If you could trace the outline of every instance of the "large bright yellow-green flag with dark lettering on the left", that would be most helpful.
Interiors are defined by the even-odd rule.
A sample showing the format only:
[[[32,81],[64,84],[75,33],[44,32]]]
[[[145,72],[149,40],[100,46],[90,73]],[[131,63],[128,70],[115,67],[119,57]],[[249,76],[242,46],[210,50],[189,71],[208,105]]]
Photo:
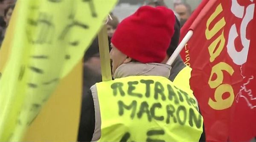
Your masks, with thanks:
[[[84,55],[115,3],[17,1],[16,16],[9,25],[12,30],[8,29],[3,43],[10,48],[0,78],[0,141],[22,139],[58,82]]]

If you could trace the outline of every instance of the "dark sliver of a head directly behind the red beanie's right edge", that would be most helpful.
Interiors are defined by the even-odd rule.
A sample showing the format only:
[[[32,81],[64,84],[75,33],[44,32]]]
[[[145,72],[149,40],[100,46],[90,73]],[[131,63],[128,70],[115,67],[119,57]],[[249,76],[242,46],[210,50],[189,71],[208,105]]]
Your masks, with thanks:
[[[169,48],[167,49],[167,52],[166,52],[168,56],[172,56],[172,53],[175,51],[175,49],[179,45],[179,42],[180,42],[180,22],[175,16],[174,33],[173,33]]]

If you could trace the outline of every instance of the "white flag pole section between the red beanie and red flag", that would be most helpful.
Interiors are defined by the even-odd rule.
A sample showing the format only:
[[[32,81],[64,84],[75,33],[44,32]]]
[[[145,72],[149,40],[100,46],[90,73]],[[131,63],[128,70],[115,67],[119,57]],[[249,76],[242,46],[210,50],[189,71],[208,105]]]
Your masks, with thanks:
[[[184,38],[182,39],[182,41],[180,42],[180,44],[176,48],[176,50],[172,53],[172,56],[168,59],[166,64],[169,64],[170,66],[172,65],[172,63],[177,58],[177,56],[180,54],[180,51],[183,49],[183,47],[186,45],[186,43],[189,41],[189,39],[192,37],[192,35],[193,35],[193,31],[189,30],[186,33],[186,36],[184,36]]]

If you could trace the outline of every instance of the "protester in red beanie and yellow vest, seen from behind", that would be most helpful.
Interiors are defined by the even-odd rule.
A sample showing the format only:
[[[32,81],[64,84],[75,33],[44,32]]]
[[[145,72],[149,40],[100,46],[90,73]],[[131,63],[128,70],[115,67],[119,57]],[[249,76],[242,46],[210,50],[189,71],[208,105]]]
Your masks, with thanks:
[[[83,98],[78,141],[199,140],[203,120],[196,99],[174,86],[168,80],[171,66],[161,64],[174,25],[173,11],[163,6],[143,6],[119,24],[110,53],[115,80],[93,85]],[[178,115],[181,108],[183,116]],[[190,115],[186,109],[193,116],[185,117]],[[185,122],[195,117],[198,119]]]

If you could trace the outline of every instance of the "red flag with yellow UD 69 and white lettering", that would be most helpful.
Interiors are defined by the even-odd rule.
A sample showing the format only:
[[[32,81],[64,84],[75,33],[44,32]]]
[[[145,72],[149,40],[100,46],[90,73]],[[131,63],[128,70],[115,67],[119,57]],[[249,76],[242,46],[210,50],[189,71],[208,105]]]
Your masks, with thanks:
[[[256,136],[256,0],[203,0],[181,29],[194,31],[180,55],[207,141]]]

